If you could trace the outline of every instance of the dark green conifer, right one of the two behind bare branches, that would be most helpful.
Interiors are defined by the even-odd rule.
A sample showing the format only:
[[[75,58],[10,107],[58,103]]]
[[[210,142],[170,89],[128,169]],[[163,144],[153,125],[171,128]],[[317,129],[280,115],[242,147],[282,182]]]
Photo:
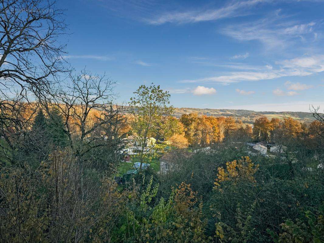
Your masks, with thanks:
[[[52,110],[48,122],[49,139],[53,145],[61,148],[68,144],[68,136],[64,132],[64,122],[57,110]]]

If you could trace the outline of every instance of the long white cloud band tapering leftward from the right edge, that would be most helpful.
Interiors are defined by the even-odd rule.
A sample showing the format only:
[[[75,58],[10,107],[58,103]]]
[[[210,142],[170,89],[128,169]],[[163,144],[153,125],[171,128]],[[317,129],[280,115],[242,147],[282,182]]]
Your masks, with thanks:
[[[308,60],[303,63],[303,60]],[[324,71],[324,55],[300,57],[276,62],[276,68],[266,68],[260,71],[226,72],[224,75],[204,77],[199,79],[181,80],[180,83],[216,82],[224,85],[241,81],[259,81],[289,76],[307,76]]]

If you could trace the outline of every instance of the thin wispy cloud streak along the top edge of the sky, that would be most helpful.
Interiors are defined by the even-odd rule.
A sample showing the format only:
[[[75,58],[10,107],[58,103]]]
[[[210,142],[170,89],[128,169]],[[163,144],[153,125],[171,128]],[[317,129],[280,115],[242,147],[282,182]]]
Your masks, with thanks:
[[[153,19],[145,19],[145,22],[152,25],[161,25],[165,23],[186,24],[236,17],[246,15],[244,10],[258,3],[267,1],[269,0],[238,1],[217,9],[167,12]]]

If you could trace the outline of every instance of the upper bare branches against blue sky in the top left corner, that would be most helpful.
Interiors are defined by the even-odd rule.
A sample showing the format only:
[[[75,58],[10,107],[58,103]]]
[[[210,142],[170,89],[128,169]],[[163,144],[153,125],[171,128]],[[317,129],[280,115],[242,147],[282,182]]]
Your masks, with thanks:
[[[63,10],[41,0],[0,3],[0,83],[4,87],[40,88],[66,71],[65,45],[58,37],[66,28]],[[3,92],[3,95],[4,94]]]

